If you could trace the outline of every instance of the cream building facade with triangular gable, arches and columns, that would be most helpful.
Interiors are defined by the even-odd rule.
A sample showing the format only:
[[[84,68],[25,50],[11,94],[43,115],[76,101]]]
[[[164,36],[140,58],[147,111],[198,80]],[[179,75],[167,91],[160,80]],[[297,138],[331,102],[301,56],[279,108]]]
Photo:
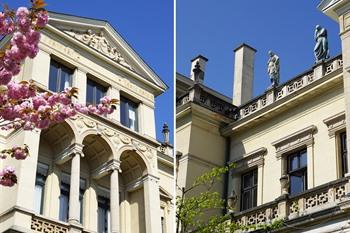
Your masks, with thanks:
[[[2,148],[26,144],[30,157],[0,161],[18,175],[0,189],[0,231],[172,232],[172,146],[155,139],[154,114],[167,86],[154,71],[108,22],[50,12],[37,57],[16,77],[29,78],[53,92],[78,87],[81,103],[108,95],[119,105],[107,117],[1,132]]]

